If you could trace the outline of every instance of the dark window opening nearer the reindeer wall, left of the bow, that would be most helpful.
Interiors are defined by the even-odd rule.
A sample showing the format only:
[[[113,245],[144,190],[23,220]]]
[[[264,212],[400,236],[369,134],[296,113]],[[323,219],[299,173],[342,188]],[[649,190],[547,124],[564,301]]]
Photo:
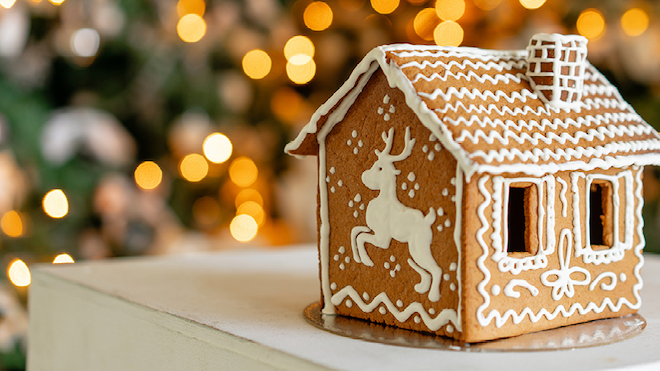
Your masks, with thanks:
[[[538,251],[538,193],[532,183],[512,183],[507,205],[509,255],[534,255]]]

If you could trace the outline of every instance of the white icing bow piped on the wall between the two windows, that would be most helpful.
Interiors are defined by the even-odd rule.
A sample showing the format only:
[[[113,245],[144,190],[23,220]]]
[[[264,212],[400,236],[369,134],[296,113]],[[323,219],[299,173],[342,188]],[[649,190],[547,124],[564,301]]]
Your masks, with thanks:
[[[552,298],[554,300],[561,299],[564,295],[572,298],[575,295],[575,286],[585,286],[591,281],[591,274],[584,268],[571,267],[571,255],[573,253],[573,240],[571,231],[563,229],[559,236],[559,269],[551,269],[541,274],[541,283],[545,286],[552,287]],[[564,246],[566,248],[564,249]],[[564,250],[566,250],[564,252]],[[576,280],[571,278],[571,275],[578,273],[584,275],[584,279]],[[556,277],[550,280],[550,277]]]

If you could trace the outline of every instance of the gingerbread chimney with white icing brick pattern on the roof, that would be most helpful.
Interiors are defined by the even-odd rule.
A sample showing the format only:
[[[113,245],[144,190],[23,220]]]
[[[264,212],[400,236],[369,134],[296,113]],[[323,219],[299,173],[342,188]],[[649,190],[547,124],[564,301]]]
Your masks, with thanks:
[[[536,34],[527,46],[527,77],[548,105],[579,107],[587,60],[587,39],[578,35]]]

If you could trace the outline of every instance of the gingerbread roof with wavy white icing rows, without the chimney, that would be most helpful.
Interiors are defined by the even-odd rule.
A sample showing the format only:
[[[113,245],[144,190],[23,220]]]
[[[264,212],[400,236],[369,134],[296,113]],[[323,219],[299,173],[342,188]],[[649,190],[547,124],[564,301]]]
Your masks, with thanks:
[[[540,176],[564,170],[660,165],[660,135],[584,61],[581,100],[555,106],[527,75],[528,52],[396,44],[372,50],[286,152],[318,153],[381,68],[421,123],[474,173]]]

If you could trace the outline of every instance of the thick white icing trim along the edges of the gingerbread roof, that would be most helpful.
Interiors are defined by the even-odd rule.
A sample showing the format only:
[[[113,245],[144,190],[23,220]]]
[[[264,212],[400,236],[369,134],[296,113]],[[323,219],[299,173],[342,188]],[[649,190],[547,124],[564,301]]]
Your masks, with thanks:
[[[628,142],[622,140],[621,142],[609,143],[609,150],[606,150],[604,146],[587,148],[575,147],[574,152],[576,155],[572,156],[573,158],[568,159],[565,155],[557,153],[550,157],[558,157],[560,158],[559,160],[543,164],[529,164],[523,163],[522,161],[520,163],[502,164],[497,160],[493,160],[493,158],[511,156],[511,153],[508,155],[501,153],[491,155],[490,152],[493,151],[486,151],[488,157],[493,158],[491,158],[489,163],[479,163],[475,161],[475,155],[484,157],[484,153],[486,152],[469,152],[463,148],[461,143],[458,143],[453,138],[452,132],[447,126],[447,122],[438,117],[437,113],[426,105],[419,92],[417,92],[413,86],[413,82],[403,73],[401,67],[393,60],[388,62],[388,53],[393,53],[397,56],[425,56],[433,52],[442,52],[444,55],[479,59],[481,61],[501,61],[509,58],[522,58],[524,60],[527,56],[526,50],[494,51],[468,47],[420,46],[411,44],[391,44],[376,47],[357,65],[346,82],[344,82],[344,84],[316,110],[309,123],[305,125],[298,136],[286,145],[285,152],[300,157],[300,154],[292,152],[298,150],[304,142],[313,140],[313,137],[316,137],[316,140],[319,142],[325,140],[327,133],[332,130],[334,125],[342,121],[346,112],[353,105],[357,96],[362,92],[362,89],[373,73],[380,67],[386,76],[390,87],[397,88],[403,92],[406,104],[415,112],[420,122],[453,154],[457,159],[459,166],[465,172],[467,179],[475,173],[525,173],[528,175],[541,176],[543,174],[555,173],[558,171],[589,171],[595,168],[607,169],[610,167],[626,167],[631,165],[660,165],[660,135],[658,135],[655,130],[653,130],[655,138],[646,140],[643,142],[642,146],[636,145],[638,142],[632,143],[635,145],[627,146]],[[607,84],[610,85],[609,83]],[[529,95],[531,95],[529,99],[540,100],[535,92],[531,92]],[[615,97],[623,101],[618,91],[616,92]],[[556,108],[547,108],[552,112],[559,111],[559,109]],[[579,112],[579,110],[580,108],[578,107],[574,111]],[[632,113],[637,115],[634,111],[632,111]],[[326,120],[321,127],[319,127],[319,121],[323,118]],[[648,125],[641,119],[641,117],[639,118],[639,121],[644,125]],[[612,148],[614,150],[612,150]],[[558,149],[558,152],[562,152],[561,148]],[[582,157],[582,154],[585,152],[598,157],[590,157],[581,160],[580,157]],[[625,154],[625,152],[630,152],[630,154]],[[612,153],[613,155],[608,156],[608,153]],[[585,157],[588,156],[585,155]],[[520,160],[520,158],[518,158],[518,160]]]

